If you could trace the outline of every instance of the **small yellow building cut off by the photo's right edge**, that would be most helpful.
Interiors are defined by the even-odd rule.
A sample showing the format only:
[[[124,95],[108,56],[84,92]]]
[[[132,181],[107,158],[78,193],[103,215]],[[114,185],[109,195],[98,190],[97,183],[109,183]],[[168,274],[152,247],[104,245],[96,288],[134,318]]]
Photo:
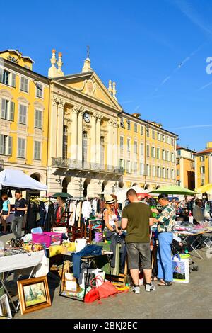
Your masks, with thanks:
[[[208,142],[206,149],[196,152],[195,159],[195,187],[212,183],[212,142]]]

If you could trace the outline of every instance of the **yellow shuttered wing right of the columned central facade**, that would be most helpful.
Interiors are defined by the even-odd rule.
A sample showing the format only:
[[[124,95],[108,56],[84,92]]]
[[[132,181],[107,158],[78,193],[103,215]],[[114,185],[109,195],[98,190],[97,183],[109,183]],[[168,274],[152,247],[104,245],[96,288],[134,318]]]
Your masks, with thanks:
[[[119,120],[119,166],[123,186],[145,189],[176,184],[177,135],[123,111]]]

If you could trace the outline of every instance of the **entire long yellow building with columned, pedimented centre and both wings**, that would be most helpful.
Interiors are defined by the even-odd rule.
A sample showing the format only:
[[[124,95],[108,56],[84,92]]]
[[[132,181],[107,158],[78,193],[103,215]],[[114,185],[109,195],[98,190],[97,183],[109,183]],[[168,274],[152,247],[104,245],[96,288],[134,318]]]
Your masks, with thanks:
[[[52,50],[48,77],[18,50],[0,52],[0,162],[47,183],[48,193],[98,197],[117,187],[176,183],[177,135],[126,113],[89,57],[64,75]]]

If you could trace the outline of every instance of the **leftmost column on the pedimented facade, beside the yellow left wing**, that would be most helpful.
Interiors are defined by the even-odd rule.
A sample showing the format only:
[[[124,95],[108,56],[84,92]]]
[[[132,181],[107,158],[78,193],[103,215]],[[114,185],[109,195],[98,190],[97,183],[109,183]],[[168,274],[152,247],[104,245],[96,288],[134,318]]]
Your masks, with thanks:
[[[57,98],[52,97],[50,113],[49,158],[57,157]],[[51,161],[52,164],[52,161]]]

